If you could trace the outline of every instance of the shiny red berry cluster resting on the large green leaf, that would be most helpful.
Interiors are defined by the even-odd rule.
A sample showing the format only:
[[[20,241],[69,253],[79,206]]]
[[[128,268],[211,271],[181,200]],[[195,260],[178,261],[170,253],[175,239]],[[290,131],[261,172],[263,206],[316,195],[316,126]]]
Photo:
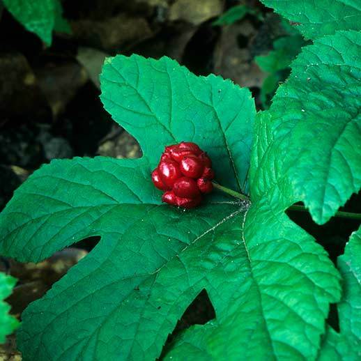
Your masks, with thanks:
[[[197,144],[182,141],[166,146],[158,167],[152,173],[152,181],[164,190],[162,201],[183,208],[199,205],[202,194],[213,190],[212,162]]]

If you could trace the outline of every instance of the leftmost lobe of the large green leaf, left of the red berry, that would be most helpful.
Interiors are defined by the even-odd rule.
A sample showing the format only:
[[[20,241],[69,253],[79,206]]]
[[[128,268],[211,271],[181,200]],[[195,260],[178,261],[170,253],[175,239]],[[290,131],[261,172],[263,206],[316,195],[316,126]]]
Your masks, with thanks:
[[[1,213],[0,253],[38,262],[77,240],[98,236],[104,230],[93,223],[114,214],[112,208],[121,203],[158,205],[160,192],[150,174],[146,160],[74,158],[44,165]]]

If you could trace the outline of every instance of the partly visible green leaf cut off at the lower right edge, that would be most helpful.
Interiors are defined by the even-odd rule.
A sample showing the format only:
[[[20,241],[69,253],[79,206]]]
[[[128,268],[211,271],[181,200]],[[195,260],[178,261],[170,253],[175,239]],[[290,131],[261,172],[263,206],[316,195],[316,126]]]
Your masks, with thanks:
[[[343,294],[337,305],[340,332],[328,326],[319,360],[361,358],[361,228],[351,235],[337,266],[343,279]]]

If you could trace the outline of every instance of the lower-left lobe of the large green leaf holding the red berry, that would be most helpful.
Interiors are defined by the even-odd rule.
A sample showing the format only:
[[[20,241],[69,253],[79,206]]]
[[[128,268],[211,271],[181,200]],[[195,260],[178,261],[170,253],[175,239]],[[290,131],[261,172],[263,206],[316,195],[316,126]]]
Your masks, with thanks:
[[[223,282],[222,259],[236,240],[222,243],[218,229],[240,210],[212,210],[128,206],[132,222],[124,210],[109,213],[112,233],[103,231],[95,252],[24,312],[18,340],[26,359],[157,358],[190,302]]]

